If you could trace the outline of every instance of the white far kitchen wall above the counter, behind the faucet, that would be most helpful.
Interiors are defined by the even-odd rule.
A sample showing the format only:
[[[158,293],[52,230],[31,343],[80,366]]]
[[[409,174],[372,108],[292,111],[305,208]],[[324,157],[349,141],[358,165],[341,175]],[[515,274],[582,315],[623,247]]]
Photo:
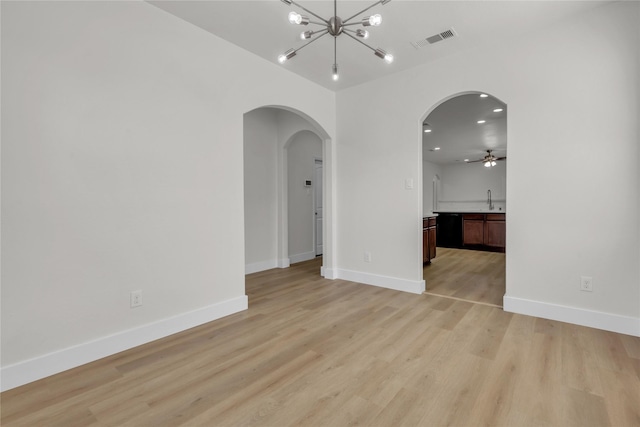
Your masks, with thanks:
[[[491,168],[482,163],[443,165],[440,178],[440,211],[488,209],[487,190],[491,190],[496,211],[506,207],[507,160],[496,162]]]

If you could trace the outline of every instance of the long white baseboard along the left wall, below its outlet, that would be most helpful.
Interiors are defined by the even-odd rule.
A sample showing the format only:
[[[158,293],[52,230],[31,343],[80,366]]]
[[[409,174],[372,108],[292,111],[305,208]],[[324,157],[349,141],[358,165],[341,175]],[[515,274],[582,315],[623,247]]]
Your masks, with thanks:
[[[94,341],[78,344],[53,353],[5,366],[0,371],[5,391],[103,357],[155,341],[160,338],[211,322],[248,308],[246,295],[222,301],[137,328],[118,332]]]

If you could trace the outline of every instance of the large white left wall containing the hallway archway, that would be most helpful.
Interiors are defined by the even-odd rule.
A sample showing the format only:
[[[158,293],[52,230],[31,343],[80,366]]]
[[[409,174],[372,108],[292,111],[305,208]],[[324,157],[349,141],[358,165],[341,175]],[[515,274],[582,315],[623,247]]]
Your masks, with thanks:
[[[265,105],[334,138],[333,93],[149,4],[2,2],[2,388],[246,307]]]

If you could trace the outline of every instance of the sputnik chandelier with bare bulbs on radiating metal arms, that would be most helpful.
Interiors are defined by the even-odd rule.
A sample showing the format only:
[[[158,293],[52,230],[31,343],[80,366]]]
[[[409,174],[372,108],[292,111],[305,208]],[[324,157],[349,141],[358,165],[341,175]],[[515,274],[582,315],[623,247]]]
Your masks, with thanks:
[[[371,9],[374,6],[377,6],[378,4],[381,5],[385,5],[387,3],[389,3],[391,0],[379,0],[375,3],[373,3],[371,6],[361,10],[360,12],[356,13],[355,15],[347,18],[347,19],[341,19],[338,16],[338,6],[337,6],[337,0],[333,1],[333,16],[329,19],[324,19],[321,16],[313,13],[312,11],[310,11],[309,9],[304,8],[303,6],[301,6],[300,4],[296,3],[294,0],[282,0],[284,3],[286,3],[287,5],[294,5],[299,7],[300,9],[302,9],[303,11],[309,13],[310,15],[313,15],[315,18],[319,19],[321,22],[317,22],[317,21],[312,21],[311,19],[309,19],[309,17],[304,16],[299,14],[298,12],[295,11],[291,11],[289,12],[289,22],[295,25],[309,25],[309,24],[314,24],[314,25],[320,25],[321,28],[315,31],[309,30],[309,31],[303,31],[300,34],[300,38],[302,40],[309,40],[307,43],[303,44],[302,46],[300,46],[297,49],[289,49],[288,51],[286,51],[285,53],[283,53],[282,55],[278,56],[278,62],[280,62],[281,64],[283,64],[285,61],[287,61],[288,59],[293,58],[296,53],[298,53],[298,51],[306,46],[309,46],[311,43],[313,43],[314,41],[326,36],[327,34],[333,36],[333,66],[331,67],[331,72],[332,72],[332,77],[333,80],[338,80],[338,61],[337,61],[337,56],[338,56],[338,48],[337,48],[337,39],[339,35],[345,34],[349,37],[351,37],[352,39],[354,39],[355,41],[357,41],[358,43],[363,44],[364,46],[368,47],[369,49],[371,49],[373,51],[373,53],[379,57],[384,59],[387,63],[392,63],[393,62],[393,55],[391,55],[390,53],[385,52],[384,50],[377,48],[374,49],[373,47],[369,46],[368,44],[366,44],[365,42],[363,42],[360,39],[364,39],[366,40],[369,37],[369,32],[363,28],[358,28],[356,30],[353,30],[351,28],[347,28],[353,25],[362,25],[363,27],[377,27],[378,25],[380,25],[382,23],[382,16],[380,16],[379,14],[375,14],[375,15],[371,15],[368,16],[366,18],[362,18],[360,20],[354,21],[354,22],[350,22],[353,18],[356,18],[357,16],[363,14],[364,12],[368,11],[369,9]]]

